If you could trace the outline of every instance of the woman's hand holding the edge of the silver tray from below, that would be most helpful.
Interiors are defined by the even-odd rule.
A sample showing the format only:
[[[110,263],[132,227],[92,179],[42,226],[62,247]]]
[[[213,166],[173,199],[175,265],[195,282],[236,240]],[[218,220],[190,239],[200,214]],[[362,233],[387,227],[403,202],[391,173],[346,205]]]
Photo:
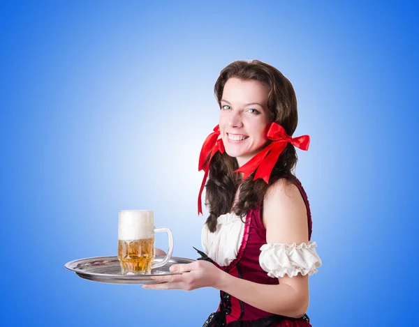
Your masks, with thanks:
[[[174,264],[170,266],[171,273],[182,275],[153,276],[153,280],[161,284],[144,284],[144,289],[183,289],[192,291],[200,287],[214,287],[219,289],[223,271],[208,261],[197,260],[191,264]]]

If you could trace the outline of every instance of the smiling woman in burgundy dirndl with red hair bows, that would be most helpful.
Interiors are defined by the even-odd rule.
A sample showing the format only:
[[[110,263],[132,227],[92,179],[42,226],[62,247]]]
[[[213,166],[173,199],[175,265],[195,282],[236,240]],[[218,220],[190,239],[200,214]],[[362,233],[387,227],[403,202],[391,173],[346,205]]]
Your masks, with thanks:
[[[221,112],[200,153],[210,211],[203,260],[170,268],[148,289],[214,287],[221,302],[204,326],[311,326],[309,275],[321,259],[311,238],[307,195],[293,175],[297,100],[291,83],[261,61],[235,61],[221,71]],[[218,139],[218,137],[221,137]],[[201,212],[200,195],[198,212]]]

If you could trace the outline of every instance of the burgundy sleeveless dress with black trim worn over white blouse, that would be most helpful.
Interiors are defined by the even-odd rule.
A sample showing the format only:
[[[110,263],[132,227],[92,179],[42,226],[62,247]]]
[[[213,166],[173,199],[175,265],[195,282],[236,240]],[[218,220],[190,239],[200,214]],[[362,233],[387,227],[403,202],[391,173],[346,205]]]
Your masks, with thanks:
[[[311,238],[311,212],[306,192],[302,188],[300,181],[295,183],[300,190],[302,198],[307,208],[307,218],[309,223],[309,240]],[[235,277],[250,280],[258,284],[279,284],[277,278],[267,275],[260,267],[259,255],[260,247],[266,243],[266,229],[260,218],[260,206],[247,213],[244,233],[239,252],[235,260],[228,266],[219,266],[203,252],[201,256],[207,261],[211,261],[215,266],[226,271]],[[311,327],[309,317],[304,314],[300,319],[279,316],[265,312],[253,307],[239,299],[220,291],[221,301],[216,312],[208,317],[203,327]]]

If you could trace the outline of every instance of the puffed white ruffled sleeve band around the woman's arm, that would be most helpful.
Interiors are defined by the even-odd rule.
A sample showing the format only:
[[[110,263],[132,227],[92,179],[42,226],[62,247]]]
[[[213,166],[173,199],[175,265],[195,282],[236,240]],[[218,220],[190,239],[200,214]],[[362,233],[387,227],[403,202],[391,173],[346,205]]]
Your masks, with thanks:
[[[268,243],[260,248],[259,264],[270,277],[290,277],[298,273],[313,275],[321,266],[316,253],[316,242],[287,244]]]

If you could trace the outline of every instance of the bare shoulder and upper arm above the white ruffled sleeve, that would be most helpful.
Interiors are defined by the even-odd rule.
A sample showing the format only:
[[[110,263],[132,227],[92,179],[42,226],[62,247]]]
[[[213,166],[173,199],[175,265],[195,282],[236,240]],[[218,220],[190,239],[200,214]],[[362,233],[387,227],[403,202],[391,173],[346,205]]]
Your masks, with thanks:
[[[281,178],[268,188],[263,201],[267,243],[307,243],[307,208],[297,186]]]

